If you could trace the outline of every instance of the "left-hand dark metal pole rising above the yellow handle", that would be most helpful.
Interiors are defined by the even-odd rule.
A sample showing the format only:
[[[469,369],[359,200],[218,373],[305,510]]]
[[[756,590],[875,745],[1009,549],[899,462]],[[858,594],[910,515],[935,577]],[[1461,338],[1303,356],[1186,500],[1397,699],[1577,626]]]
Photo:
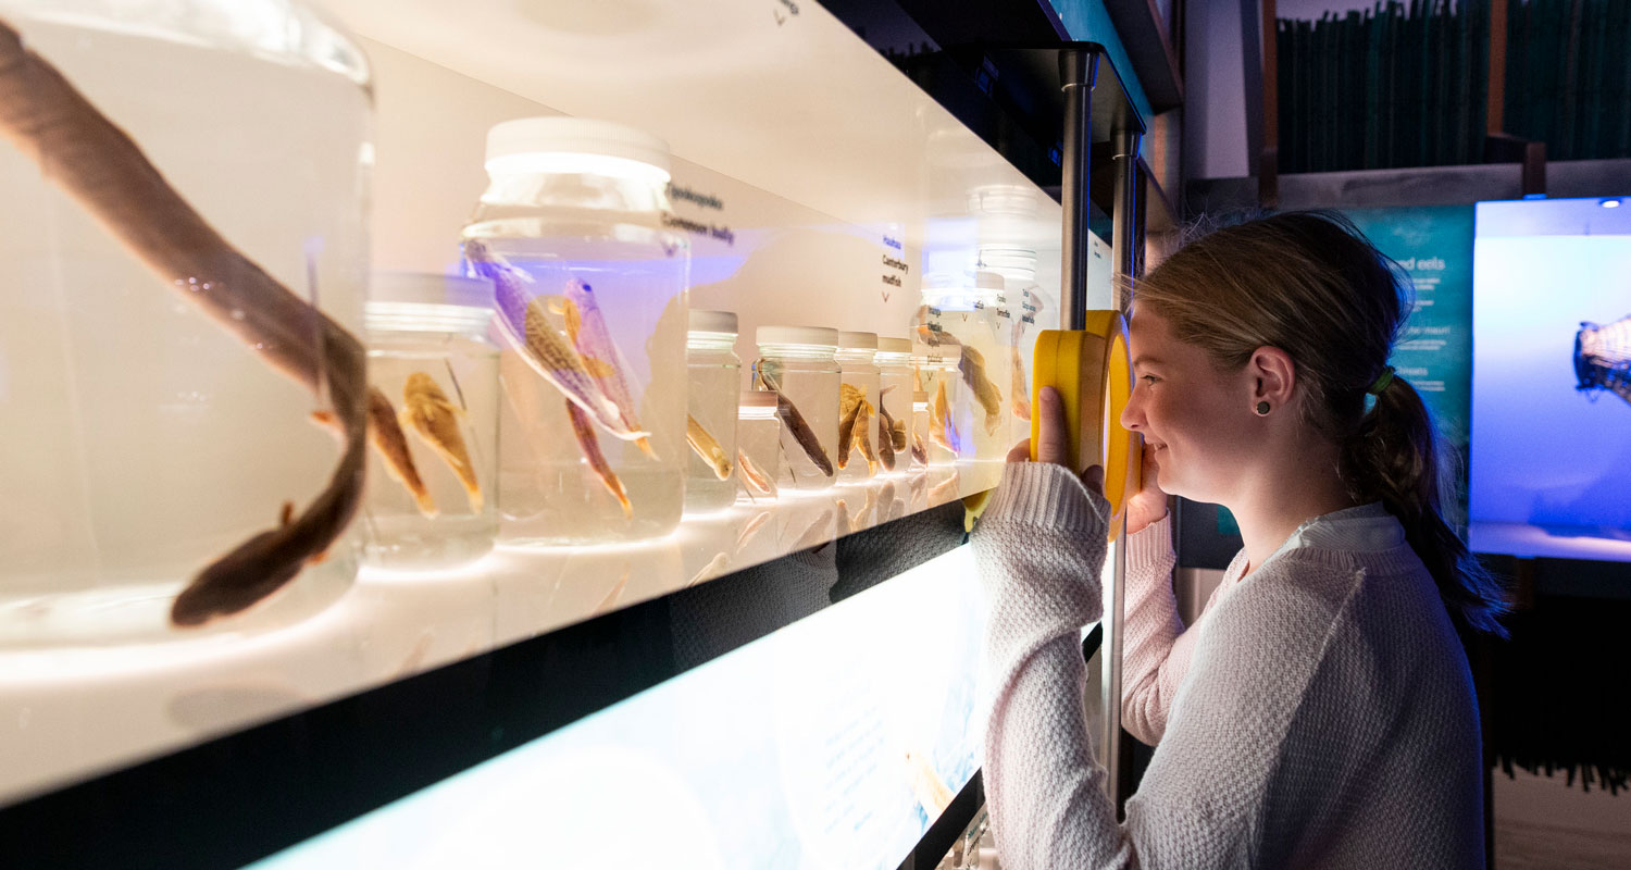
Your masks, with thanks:
[[[1059,289],[1060,320],[1067,330],[1088,325],[1088,176],[1093,155],[1093,82],[1099,55],[1086,51],[1059,52],[1059,78],[1065,91],[1065,149],[1060,155],[1060,204],[1063,206],[1063,282]]]

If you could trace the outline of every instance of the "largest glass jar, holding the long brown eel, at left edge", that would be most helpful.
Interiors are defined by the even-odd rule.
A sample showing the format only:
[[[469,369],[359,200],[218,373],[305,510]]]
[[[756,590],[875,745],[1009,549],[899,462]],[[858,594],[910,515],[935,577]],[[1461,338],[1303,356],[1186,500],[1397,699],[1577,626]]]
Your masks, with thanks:
[[[316,612],[357,565],[367,60],[285,0],[3,15],[0,648]]]

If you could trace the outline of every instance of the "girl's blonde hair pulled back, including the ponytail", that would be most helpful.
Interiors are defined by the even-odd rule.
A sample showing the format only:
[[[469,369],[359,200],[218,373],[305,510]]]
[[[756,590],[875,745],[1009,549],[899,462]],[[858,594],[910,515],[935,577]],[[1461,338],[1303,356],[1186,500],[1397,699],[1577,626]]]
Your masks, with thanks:
[[[1409,287],[1342,214],[1284,212],[1189,242],[1137,282],[1134,304],[1223,371],[1262,346],[1285,351],[1303,421],[1341,447],[1349,495],[1399,519],[1460,625],[1504,635],[1499,584],[1445,522],[1455,475],[1421,395],[1395,375],[1367,408],[1411,312]]]

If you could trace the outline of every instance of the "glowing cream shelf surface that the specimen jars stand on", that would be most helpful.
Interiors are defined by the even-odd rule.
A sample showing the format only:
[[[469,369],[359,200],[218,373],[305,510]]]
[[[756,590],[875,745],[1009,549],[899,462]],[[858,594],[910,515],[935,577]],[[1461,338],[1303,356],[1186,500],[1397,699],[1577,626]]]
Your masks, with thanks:
[[[157,752],[700,586],[988,490],[1000,464],[786,490],[638,545],[512,548],[439,573],[364,570],[315,619],[259,637],[0,656],[0,805]]]

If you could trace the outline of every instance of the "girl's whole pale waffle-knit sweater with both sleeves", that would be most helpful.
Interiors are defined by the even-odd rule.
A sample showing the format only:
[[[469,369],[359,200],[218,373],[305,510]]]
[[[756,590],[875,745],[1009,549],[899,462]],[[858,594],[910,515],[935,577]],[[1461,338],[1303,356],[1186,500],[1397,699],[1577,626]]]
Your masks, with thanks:
[[[1349,540],[1341,514],[1244,579],[1236,558],[1189,632],[1169,591],[1129,584],[1129,723],[1160,744],[1117,824],[1078,640],[1099,619],[1106,513],[1067,470],[1016,464],[974,532],[1005,870],[1484,865],[1478,710],[1450,619],[1396,522]],[[1169,568],[1165,532],[1129,542],[1130,573]]]

